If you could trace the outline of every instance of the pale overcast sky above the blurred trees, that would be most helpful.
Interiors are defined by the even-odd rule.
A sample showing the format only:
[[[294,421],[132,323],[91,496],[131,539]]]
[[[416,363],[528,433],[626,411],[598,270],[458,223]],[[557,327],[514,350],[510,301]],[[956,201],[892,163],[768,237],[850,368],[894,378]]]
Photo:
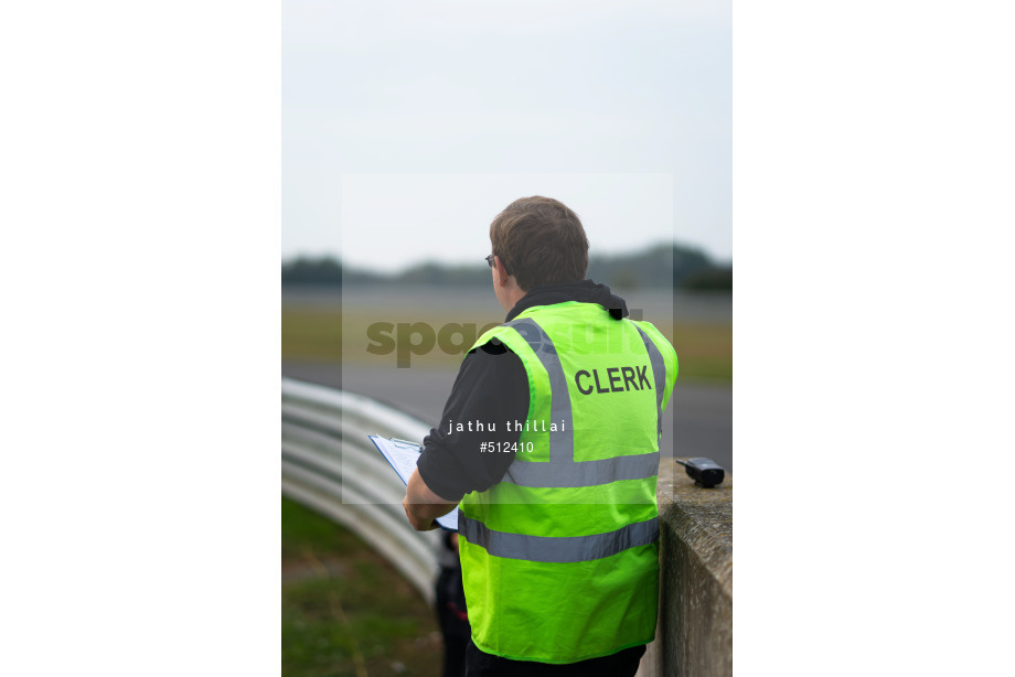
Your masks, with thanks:
[[[543,194],[730,259],[730,64],[728,2],[284,0],[282,257],[478,262]]]

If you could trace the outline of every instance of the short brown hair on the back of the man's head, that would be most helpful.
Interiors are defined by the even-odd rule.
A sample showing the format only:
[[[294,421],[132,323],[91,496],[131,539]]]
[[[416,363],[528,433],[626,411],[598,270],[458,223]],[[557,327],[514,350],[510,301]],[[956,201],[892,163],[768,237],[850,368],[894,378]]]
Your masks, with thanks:
[[[585,279],[588,238],[578,215],[552,197],[520,197],[490,224],[493,254],[524,291]]]

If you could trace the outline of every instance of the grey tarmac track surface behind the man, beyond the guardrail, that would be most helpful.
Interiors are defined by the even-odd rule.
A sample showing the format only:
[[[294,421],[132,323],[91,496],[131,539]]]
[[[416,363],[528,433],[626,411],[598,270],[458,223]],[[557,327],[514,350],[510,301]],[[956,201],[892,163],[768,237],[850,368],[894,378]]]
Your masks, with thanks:
[[[334,363],[282,362],[281,375],[366,395],[436,426],[455,369],[377,369]],[[664,455],[704,456],[733,473],[733,388],[702,382],[676,387],[663,421]]]

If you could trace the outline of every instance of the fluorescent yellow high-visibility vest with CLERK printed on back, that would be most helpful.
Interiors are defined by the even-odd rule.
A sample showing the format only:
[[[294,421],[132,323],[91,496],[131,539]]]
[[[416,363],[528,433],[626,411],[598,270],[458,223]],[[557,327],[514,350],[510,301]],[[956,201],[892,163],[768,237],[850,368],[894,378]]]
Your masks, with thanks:
[[[555,664],[651,642],[659,440],[676,352],[650,323],[576,301],[531,308],[473,347],[494,338],[522,359],[530,407],[527,421],[489,421],[522,429],[514,461],[459,506],[472,641]]]

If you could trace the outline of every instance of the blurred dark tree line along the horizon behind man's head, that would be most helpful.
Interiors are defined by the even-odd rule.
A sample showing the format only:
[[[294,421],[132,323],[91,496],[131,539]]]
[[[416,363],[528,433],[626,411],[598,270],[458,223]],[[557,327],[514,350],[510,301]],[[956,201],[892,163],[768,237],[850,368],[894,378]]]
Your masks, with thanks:
[[[713,261],[701,249],[684,245],[656,245],[624,255],[589,256],[588,277],[616,289],[667,287],[688,291],[731,291],[733,267]],[[282,286],[435,284],[489,286],[487,266],[419,264],[396,275],[380,275],[343,267],[332,257],[298,257],[282,262]]]

